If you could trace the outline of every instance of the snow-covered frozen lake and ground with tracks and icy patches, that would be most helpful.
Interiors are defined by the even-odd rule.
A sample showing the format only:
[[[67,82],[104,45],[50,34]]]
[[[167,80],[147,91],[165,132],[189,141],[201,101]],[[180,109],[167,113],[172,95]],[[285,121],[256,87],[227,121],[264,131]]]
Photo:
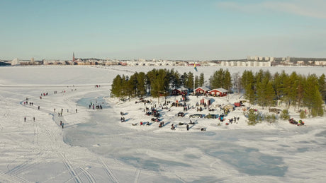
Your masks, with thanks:
[[[192,67],[173,68],[179,73],[193,71]],[[326,117],[304,119],[305,126],[281,120],[248,126],[242,111],[235,110],[227,119],[240,117],[236,124],[192,119],[196,124],[186,131],[186,126],[179,122],[188,123],[189,114],[221,112],[191,109],[185,117],[176,117],[183,112],[182,107],[165,110],[159,107],[157,99],[152,99],[152,105],[144,105],[135,103],[137,99],[121,102],[108,97],[116,74],[151,69],[154,68],[0,67],[0,182],[325,181]],[[198,73],[204,72],[208,79],[218,69],[198,67]],[[227,69],[231,73],[249,70]],[[322,67],[250,69],[269,69],[271,73],[284,69],[286,73],[297,71],[317,76],[326,72]],[[41,93],[48,95],[40,99]],[[23,104],[26,98],[33,106]],[[214,98],[213,105],[239,98],[241,95]],[[190,99],[190,106],[200,100]],[[167,100],[174,102],[179,97]],[[89,109],[90,102],[102,105],[103,109]],[[154,105],[162,114],[162,128],[143,112],[145,107]],[[120,112],[126,113],[124,123],[120,122]],[[291,111],[291,117],[298,119],[298,113]],[[64,122],[64,129],[60,121]],[[151,125],[140,126],[140,122]],[[171,124],[176,126],[175,131],[170,129]],[[206,131],[200,131],[201,128]]]

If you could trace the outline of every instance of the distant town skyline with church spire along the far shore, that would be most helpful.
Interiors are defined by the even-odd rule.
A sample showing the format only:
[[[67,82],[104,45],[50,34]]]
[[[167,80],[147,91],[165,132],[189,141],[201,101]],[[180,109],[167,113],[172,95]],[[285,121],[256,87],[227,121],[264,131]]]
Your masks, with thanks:
[[[75,58],[71,60],[42,59],[30,60],[13,59],[1,60],[0,66],[29,66],[29,65],[101,65],[101,66],[326,66],[326,58],[303,57],[257,57],[230,60],[170,60],[170,59],[97,59]]]

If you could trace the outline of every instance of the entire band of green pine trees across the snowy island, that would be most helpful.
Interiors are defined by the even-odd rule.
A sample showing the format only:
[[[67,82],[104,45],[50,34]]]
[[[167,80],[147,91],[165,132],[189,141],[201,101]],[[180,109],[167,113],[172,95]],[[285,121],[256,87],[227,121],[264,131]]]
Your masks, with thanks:
[[[149,94],[159,98],[170,95],[174,88],[198,88],[204,85],[204,81],[203,73],[194,76],[192,72],[180,74],[174,69],[152,69],[147,73],[136,72],[131,76],[117,75],[113,79],[111,95],[133,98]],[[315,74],[303,76],[294,71],[288,75],[282,71],[272,76],[269,71],[261,69],[257,73],[245,70],[242,76],[240,73],[231,76],[228,69],[219,69],[210,76],[209,87],[244,93],[250,105],[272,107],[276,100],[281,100],[286,102],[287,107],[307,107],[313,117],[324,114],[322,105],[326,100],[325,74],[320,77]]]

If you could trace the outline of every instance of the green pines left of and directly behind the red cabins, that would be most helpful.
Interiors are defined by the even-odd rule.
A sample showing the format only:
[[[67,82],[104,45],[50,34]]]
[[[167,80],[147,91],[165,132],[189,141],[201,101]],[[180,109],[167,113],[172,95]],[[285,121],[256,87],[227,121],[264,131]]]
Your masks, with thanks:
[[[193,81],[194,80],[194,81]],[[204,85],[204,74],[193,76],[192,72],[180,74],[174,69],[152,69],[147,73],[134,73],[132,76],[117,75],[113,79],[111,94],[116,97],[142,97],[149,91],[150,95],[157,98],[170,95],[174,88],[195,88]],[[231,75],[228,70],[220,69],[210,77],[212,88],[230,89],[232,86]]]

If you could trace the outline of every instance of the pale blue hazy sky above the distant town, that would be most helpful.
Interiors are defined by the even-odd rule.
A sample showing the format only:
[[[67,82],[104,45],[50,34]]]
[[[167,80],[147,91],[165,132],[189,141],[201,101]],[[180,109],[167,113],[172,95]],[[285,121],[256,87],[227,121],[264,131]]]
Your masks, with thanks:
[[[0,59],[326,57],[324,0],[1,0]]]

